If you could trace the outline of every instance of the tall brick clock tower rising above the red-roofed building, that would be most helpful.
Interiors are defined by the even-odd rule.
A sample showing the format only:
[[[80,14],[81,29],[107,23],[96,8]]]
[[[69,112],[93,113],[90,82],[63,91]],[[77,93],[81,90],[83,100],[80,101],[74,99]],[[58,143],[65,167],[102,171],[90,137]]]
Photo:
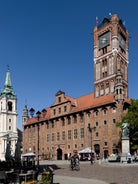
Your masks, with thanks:
[[[94,96],[128,97],[128,31],[118,15],[94,27]]]

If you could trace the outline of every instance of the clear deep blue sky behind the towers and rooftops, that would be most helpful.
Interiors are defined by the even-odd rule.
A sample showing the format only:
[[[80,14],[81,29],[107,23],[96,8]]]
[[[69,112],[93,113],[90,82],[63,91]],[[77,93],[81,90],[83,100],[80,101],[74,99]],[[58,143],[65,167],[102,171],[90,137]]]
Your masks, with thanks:
[[[24,105],[49,107],[62,90],[74,98],[93,92],[93,38],[99,22],[118,14],[130,33],[129,97],[138,99],[136,0],[1,0],[0,89],[7,65],[17,94],[18,127]],[[131,12],[131,13],[130,13]]]

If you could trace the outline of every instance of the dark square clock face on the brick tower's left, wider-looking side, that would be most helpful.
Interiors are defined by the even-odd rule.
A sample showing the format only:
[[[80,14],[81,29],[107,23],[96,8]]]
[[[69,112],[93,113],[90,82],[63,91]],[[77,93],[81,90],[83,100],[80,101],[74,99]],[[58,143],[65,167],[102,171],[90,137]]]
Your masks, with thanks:
[[[107,47],[110,44],[110,32],[106,32],[98,37],[99,49]]]

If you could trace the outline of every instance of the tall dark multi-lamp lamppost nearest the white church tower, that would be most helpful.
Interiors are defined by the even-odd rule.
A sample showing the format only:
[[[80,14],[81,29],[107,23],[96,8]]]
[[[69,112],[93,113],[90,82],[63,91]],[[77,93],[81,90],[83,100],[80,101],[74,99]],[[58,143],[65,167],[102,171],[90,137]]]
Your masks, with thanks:
[[[30,109],[30,114],[31,114],[31,116],[33,117],[33,115],[34,115],[34,113],[35,113],[35,110],[33,109],[33,108],[31,108]],[[40,127],[39,127],[39,119],[40,119],[40,114],[41,114],[41,112],[40,111],[37,111],[37,113],[36,113],[36,117],[37,117],[37,167],[39,168],[39,150],[40,150],[40,148],[39,148],[39,144],[40,144],[40,140],[39,140],[39,130],[40,130]]]

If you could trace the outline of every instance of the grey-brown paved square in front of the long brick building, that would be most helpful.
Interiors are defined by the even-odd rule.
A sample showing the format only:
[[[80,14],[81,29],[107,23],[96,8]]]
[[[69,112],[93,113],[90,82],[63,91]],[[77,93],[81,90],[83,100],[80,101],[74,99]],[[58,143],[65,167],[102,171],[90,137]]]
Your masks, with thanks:
[[[64,162],[64,163],[63,163]],[[54,161],[52,162],[54,164]],[[108,184],[137,184],[138,163],[80,162],[80,171],[71,171],[68,161],[58,161],[55,176],[87,178],[106,182]],[[68,182],[66,182],[68,183]],[[66,184],[65,183],[65,184]],[[98,184],[98,182],[96,183]]]

